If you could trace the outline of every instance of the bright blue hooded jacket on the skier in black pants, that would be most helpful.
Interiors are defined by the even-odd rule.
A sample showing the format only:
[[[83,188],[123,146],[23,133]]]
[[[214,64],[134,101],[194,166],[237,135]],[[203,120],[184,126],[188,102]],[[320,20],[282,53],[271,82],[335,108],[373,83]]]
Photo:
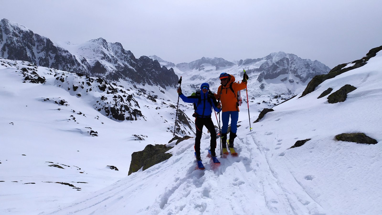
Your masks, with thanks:
[[[203,93],[203,90],[202,90],[203,86],[207,86],[208,88],[210,88],[210,85],[208,83],[202,83],[202,85],[200,85],[200,97],[201,97],[200,104],[198,104],[199,98],[188,98],[184,94],[180,94],[179,97],[186,103],[196,104],[195,112],[198,115],[198,117],[210,117],[212,114],[212,108],[214,108],[216,112],[220,112],[222,109],[221,108],[219,109],[215,106],[214,102],[212,101],[212,98],[209,98],[211,99],[210,102],[207,100],[208,91],[207,93]]]

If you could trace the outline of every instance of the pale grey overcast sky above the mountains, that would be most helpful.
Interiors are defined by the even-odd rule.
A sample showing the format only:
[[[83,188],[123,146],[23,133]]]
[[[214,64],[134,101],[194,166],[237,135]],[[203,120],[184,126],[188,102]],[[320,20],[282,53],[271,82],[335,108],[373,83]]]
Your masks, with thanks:
[[[380,0],[0,0],[0,18],[53,42],[102,37],[175,64],[284,51],[330,68],[382,45]]]

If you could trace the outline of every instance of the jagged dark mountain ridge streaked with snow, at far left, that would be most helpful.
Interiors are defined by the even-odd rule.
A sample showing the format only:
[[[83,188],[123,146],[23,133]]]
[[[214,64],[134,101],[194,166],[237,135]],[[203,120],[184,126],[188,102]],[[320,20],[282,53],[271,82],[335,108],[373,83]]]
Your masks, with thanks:
[[[136,59],[119,42],[99,38],[79,45],[58,45],[6,19],[0,21],[0,58],[24,60],[109,81],[125,80],[162,88],[175,87],[178,82],[172,69],[160,66],[147,56]]]

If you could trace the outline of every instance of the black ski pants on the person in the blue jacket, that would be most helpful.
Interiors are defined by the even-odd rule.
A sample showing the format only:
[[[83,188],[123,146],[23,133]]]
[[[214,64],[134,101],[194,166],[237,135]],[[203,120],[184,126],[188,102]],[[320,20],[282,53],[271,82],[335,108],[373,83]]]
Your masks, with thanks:
[[[215,148],[216,148],[216,131],[214,123],[212,122],[211,117],[196,117],[195,119],[195,127],[196,127],[196,138],[195,138],[195,151],[196,151],[196,159],[200,160],[200,139],[202,138],[202,130],[203,126],[206,126],[207,130],[210,131],[211,141],[210,141],[210,150],[211,155],[216,156]]]

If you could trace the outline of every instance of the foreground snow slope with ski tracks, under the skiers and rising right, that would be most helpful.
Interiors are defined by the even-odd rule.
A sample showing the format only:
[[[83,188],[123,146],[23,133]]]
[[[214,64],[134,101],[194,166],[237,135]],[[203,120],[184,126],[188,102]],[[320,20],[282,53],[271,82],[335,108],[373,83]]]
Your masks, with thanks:
[[[381,68],[379,52],[363,67],[275,106],[252,131],[243,120],[239,156],[220,158],[219,166],[206,157],[209,135],[202,137],[204,171],[196,170],[193,139],[185,140],[174,145],[167,161],[40,214],[381,214]],[[346,84],[357,88],[346,101],[317,99],[327,88]],[[251,116],[253,123],[257,116]],[[334,138],[352,132],[378,143]]]

